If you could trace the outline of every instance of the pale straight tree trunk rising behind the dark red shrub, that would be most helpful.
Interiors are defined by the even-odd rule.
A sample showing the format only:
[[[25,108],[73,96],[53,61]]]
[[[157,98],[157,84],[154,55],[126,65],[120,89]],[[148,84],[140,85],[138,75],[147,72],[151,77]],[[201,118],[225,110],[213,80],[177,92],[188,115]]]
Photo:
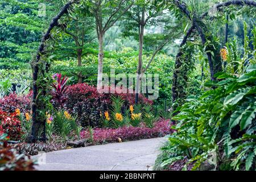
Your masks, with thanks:
[[[104,50],[103,50],[103,40],[104,33],[100,32],[98,35],[98,78],[97,78],[97,88],[102,88],[102,73],[103,73],[103,58],[104,58]]]

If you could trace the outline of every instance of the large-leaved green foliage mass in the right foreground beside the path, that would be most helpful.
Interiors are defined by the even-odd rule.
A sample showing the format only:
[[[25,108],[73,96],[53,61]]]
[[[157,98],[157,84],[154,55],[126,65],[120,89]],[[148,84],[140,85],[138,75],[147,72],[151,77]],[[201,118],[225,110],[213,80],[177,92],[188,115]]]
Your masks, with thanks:
[[[250,65],[240,77],[218,73],[223,80],[210,84],[216,89],[189,100],[172,118],[177,132],[170,136],[168,150],[178,150],[189,163],[195,162],[193,169],[205,161],[212,169],[254,169],[255,71]]]

